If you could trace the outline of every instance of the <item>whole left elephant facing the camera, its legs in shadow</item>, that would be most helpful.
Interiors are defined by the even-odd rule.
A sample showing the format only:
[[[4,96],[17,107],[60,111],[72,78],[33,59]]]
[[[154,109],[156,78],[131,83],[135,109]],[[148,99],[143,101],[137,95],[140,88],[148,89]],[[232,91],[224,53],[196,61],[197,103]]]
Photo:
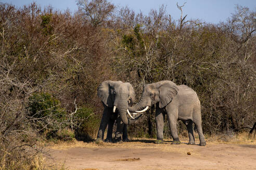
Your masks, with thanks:
[[[135,100],[135,93],[132,85],[128,82],[124,83],[122,81],[107,80],[99,85],[97,95],[103,103],[104,111],[96,140],[104,140],[104,132],[108,125],[107,138],[105,141],[111,142],[113,124],[114,121],[117,120],[117,131],[114,140],[120,141],[121,134],[123,134],[122,140],[129,141],[127,136],[127,124],[134,123],[140,116],[142,116],[140,115],[134,120],[127,119],[126,117],[126,112],[129,112],[128,107],[132,106]],[[129,115],[131,117],[130,112]],[[125,124],[122,121],[124,119],[123,117],[127,119]]]

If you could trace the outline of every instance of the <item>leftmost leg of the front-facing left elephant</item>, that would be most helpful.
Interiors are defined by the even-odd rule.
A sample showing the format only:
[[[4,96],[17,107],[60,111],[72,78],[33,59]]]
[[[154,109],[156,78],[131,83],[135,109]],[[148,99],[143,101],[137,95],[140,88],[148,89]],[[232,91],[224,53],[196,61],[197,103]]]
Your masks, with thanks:
[[[101,118],[100,125],[99,125],[97,140],[104,140],[104,133],[108,125],[108,121],[110,119],[108,111],[109,111],[108,108],[105,107],[103,111],[103,116]]]

